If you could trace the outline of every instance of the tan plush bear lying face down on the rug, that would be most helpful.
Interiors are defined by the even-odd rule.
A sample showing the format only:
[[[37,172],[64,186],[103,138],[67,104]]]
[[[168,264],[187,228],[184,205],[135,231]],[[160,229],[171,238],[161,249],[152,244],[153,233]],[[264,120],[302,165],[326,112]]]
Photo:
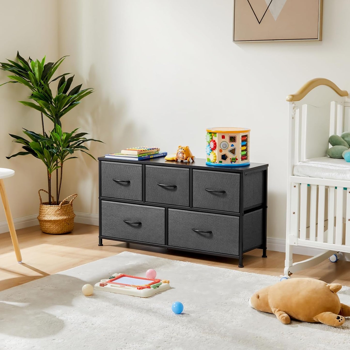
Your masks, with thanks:
[[[338,327],[345,322],[344,317],[350,316],[350,307],[342,304],[337,295],[341,288],[313,278],[292,278],[258,290],[249,305],[275,314],[283,324],[294,318]]]

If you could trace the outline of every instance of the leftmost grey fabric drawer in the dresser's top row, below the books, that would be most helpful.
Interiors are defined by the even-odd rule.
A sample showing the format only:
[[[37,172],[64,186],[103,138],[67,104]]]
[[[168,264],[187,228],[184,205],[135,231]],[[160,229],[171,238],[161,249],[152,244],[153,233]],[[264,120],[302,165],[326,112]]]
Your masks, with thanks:
[[[101,162],[101,195],[142,201],[142,165]]]

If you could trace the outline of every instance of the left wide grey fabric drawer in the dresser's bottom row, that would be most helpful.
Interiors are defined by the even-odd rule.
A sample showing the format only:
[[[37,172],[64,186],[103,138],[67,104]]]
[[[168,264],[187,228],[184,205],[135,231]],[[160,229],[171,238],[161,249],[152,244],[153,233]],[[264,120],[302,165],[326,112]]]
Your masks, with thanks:
[[[165,209],[102,201],[101,235],[165,244]]]

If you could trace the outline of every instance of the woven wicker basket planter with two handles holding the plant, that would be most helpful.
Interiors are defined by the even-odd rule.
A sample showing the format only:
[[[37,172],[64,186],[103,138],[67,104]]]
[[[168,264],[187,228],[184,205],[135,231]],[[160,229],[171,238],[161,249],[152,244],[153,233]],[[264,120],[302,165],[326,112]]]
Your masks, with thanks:
[[[67,198],[64,198],[59,205],[48,205],[49,202],[43,202],[40,196],[40,208],[38,221],[40,224],[40,229],[44,233],[49,233],[50,235],[61,235],[62,233],[71,232],[74,228],[74,211],[73,211],[73,201],[77,197],[77,194],[73,194]],[[51,196],[52,197],[52,196]],[[68,198],[73,197],[69,202]],[[52,201],[54,197],[52,197]]]

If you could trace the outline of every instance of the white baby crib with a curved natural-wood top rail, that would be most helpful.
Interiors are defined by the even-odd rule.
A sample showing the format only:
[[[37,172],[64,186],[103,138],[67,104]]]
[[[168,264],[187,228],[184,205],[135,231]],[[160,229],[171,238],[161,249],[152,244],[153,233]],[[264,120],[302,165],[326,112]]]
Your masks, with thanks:
[[[338,252],[350,253],[350,163],[327,157],[329,135],[350,131],[347,96],[347,91],[323,78],[310,80],[296,94],[287,96],[289,146],[284,278],[317,265],[334,253],[334,260]],[[293,246],[324,252],[293,263]]]

